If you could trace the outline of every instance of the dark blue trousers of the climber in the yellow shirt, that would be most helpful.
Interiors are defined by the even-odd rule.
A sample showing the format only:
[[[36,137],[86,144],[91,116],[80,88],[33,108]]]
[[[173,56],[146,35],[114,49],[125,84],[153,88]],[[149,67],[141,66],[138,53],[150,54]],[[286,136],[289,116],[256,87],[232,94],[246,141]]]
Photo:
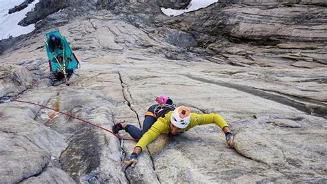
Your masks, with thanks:
[[[126,125],[125,127],[125,131],[128,132],[128,134],[130,134],[130,136],[132,136],[132,138],[135,139],[140,139],[144,133],[146,133],[146,131],[148,131],[148,129],[150,129],[150,127],[153,125],[153,123],[156,122],[156,118],[153,116],[146,116],[146,118],[144,118],[143,121],[143,129],[139,129],[137,127],[135,127],[134,125]]]

